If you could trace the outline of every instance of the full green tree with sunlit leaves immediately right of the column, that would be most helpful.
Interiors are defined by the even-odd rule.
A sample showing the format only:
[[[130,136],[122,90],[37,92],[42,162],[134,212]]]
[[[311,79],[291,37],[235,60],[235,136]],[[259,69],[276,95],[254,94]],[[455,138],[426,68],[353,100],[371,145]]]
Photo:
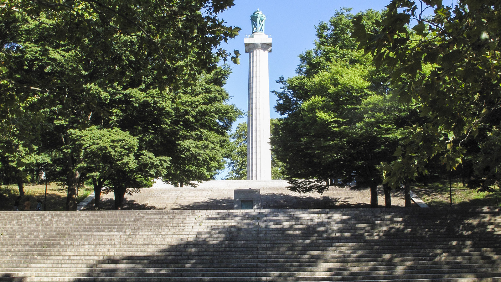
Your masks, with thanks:
[[[324,180],[299,191],[321,193],[332,179],[355,179],[370,187],[375,207],[381,184],[377,166],[394,158],[403,134],[399,128],[409,116],[388,99],[388,70],[376,70],[371,58],[356,50],[355,16],[349,12],[343,9],[329,23],[320,23],[315,48],[300,56],[298,75],[279,80],[283,87],[275,92],[275,108],[287,116],[272,143],[288,177]],[[368,10],[359,17],[369,25],[380,14]]]

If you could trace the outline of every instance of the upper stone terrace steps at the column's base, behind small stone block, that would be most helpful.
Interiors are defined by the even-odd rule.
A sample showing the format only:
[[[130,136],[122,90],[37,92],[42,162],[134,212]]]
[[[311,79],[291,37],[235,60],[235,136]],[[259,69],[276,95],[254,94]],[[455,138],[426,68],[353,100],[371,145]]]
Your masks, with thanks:
[[[370,191],[350,186],[332,186],[323,194],[297,193],[287,187],[285,180],[214,180],[200,183],[197,187],[175,188],[161,181],[152,188],[143,188],[141,192],[126,195],[123,209],[175,210],[175,209],[233,209],[233,190],[260,189],[263,209],[312,209],[312,208],[347,208],[369,207]],[[384,206],[384,193],[378,192],[378,202]],[[91,202],[86,209],[92,209]],[[402,191],[393,191],[392,205],[404,206]],[[102,196],[102,208],[112,209],[113,194]]]

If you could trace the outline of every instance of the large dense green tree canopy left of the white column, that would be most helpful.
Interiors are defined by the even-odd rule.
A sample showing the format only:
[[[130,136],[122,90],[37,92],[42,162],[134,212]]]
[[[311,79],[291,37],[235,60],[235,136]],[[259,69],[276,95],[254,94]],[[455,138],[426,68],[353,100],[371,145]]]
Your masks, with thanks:
[[[3,164],[23,171],[26,160],[51,156],[54,180],[68,187],[67,208],[75,209],[77,186],[93,171],[82,166],[95,161],[82,158],[95,155],[72,136],[120,130],[137,140],[135,162],[153,164],[134,174],[213,178],[239,114],[222,89],[229,69],[218,66],[237,60],[219,48],[240,30],[218,18],[232,5],[15,0],[0,7]]]

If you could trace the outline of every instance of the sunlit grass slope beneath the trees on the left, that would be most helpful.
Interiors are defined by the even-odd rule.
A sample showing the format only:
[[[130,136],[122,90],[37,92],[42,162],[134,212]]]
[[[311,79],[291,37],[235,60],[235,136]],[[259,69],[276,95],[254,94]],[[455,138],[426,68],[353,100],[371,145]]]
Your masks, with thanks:
[[[45,198],[45,184],[25,184],[25,196],[20,201],[19,210],[25,210],[25,203],[30,202],[30,210],[34,211],[37,208],[38,200],[44,204]],[[81,188],[78,192],[77,202],[82,201],[94,190],[92,187]],[[59,211],[65,210],[66,196],[68,190],[55,183],[47,185],[47,210]],[[19,196],[19,189],[17,185],[4,185],[0,186],[0,211],[12,211],[14,203]]]

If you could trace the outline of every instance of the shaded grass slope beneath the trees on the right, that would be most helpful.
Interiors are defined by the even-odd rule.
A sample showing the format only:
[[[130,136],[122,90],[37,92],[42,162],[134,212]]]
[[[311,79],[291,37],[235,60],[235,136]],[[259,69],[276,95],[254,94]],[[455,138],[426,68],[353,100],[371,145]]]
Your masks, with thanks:
[[[426,187],[417,186],[411,189],[430,207],[450,206],[449,182],[447,180],[438,181]],[[501,206],[501,193],[498,187],[496,187],[496,192],[477,192],[476,189],[470,189],[463,186],[461,182],[454,181],[452,183],[452,206]]]

